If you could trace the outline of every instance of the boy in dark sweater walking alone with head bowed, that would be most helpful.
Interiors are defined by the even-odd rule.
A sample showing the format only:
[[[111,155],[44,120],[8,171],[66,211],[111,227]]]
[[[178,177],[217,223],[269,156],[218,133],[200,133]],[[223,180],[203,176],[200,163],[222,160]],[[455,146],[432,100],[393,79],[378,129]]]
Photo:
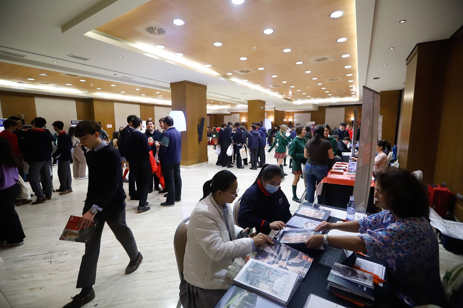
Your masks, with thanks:
[[[81,145],[91,149],[87,152],[88,191],[82,217],[78,228],[88,228],[93,219],[99,220],[91,239],[85,243],[76,288],[81,292],[63,308],[78,308],[95,298],[93,285],[96,278],[96,265],[100,254],[100,241],[105,222],[113,231],[130,258],[125,274],[138,269],[143,259],[138,252],[132,231],[125,223],[125,191],[122,186],[120,156],[116,148],[110,147],[100,138],[100,124],[84,120],[75,127],[75,136]]]

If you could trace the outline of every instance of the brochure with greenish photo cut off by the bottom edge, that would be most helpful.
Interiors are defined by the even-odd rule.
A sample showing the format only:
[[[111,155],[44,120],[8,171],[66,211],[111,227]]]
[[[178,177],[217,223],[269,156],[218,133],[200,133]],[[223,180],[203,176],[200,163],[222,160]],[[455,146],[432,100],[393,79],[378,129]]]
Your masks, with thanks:
[[[232,285],[215,308],[284,308],[284,306]]]

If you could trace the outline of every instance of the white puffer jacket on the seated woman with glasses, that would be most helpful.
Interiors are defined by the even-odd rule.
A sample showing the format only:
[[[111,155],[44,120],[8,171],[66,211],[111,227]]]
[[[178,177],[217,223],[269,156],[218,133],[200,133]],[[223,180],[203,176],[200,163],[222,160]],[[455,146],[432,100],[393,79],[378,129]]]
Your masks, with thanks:
[[[228,266],[232,265],[233,259],[252,252],[252,239],[237,239],[243,229],[235,225],[230,204],[227,206],[230,235],[223,219],[224,213],[211,195],[196,204],[191,213],[183,275],[188,283],[196,287],[227,290],[231,286],[231,279],[226,279]]]

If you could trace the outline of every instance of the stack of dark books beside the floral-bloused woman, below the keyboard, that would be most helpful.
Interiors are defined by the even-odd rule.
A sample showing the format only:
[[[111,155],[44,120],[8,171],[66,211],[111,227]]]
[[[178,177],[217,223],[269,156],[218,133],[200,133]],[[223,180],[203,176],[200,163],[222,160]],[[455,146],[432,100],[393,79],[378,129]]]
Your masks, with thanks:
[[[339,263],[330,271],[327,289],[364,305],[371,306],[375,301],[373,275]]]

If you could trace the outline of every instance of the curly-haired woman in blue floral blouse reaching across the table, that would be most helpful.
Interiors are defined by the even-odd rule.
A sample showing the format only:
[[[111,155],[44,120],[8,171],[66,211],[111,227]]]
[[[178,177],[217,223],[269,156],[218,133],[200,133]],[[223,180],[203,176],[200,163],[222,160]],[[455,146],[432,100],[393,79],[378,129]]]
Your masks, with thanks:
[[[388,168],[378,174],[375,197],[382,207],[360,220],[322,222],[316,231],[338,229],[358,236],[328,236],[329,245],[386,259],[389,285],[408,306],[446,306],[439,276],[439,247],[427,218],[428,201],[423,186],[412,173]],[[306,245],[318,247],[324,235],[314,235]]]

